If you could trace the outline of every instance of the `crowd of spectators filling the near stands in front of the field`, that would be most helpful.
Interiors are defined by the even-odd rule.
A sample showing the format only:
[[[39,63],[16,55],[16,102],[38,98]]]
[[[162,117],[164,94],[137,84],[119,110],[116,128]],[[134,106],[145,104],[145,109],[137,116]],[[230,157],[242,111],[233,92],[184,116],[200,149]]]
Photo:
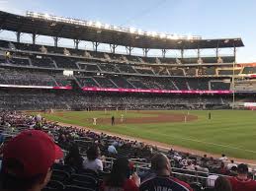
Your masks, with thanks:
[[[161,151],[137,141],[0,112],[3,191],[256,190],[254,172],[219,159]]]

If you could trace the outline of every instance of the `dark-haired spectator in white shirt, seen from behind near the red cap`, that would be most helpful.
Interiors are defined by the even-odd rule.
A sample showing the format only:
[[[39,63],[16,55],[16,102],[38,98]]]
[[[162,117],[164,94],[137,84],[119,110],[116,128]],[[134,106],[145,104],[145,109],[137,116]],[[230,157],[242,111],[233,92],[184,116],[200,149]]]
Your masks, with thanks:
[[[90,147],[86,152],[87,158],[83,161],[83,167],[85,169],[92,169],[94,171],[102,171],[103,163],[99,159],[101,156],[100,148],[96,145]]]

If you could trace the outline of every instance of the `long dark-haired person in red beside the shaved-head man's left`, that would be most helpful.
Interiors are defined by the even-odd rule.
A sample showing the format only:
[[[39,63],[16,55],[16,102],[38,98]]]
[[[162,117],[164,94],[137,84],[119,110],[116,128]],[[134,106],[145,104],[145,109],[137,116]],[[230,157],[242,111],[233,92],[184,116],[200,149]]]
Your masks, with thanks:
[[[139,178],[136,174],[130,176],[128,168],[128,159],[116,159],[111,170],[111,174],[103,182],[102,191],[122,190],[138,191]]]

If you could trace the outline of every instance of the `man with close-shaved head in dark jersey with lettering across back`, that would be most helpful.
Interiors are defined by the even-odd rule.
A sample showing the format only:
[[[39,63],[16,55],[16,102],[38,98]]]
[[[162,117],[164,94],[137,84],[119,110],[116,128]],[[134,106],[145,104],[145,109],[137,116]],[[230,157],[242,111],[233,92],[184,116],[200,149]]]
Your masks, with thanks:
[[[156,176],[145,180],[139,187],[140,191],[177,190],[192,191],[193,189],[185,182],[172,177],[171,164],[163,154],[156,154],[151,160],[151,168]]]

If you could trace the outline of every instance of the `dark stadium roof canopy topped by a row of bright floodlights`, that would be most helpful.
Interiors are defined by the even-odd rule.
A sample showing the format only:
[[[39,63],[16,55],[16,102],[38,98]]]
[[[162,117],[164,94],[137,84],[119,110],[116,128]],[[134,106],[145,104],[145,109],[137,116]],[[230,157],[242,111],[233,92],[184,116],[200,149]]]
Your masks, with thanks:
[[[28,12],[20,16],[0,11],[0,30],[34,33],[144,49],[204,49],[244,46],[241,38],[202,39],[201,36],[167,35],[100,23]]]

